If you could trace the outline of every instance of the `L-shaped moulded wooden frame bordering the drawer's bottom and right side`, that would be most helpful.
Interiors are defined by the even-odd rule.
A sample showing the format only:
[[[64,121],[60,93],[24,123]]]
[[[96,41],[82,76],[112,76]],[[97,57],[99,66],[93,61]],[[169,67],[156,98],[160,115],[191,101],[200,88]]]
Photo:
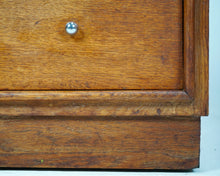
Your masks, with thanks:
[[[184,90],[0,91],[0,115],[207,115],[209,1],[183,2]]]

